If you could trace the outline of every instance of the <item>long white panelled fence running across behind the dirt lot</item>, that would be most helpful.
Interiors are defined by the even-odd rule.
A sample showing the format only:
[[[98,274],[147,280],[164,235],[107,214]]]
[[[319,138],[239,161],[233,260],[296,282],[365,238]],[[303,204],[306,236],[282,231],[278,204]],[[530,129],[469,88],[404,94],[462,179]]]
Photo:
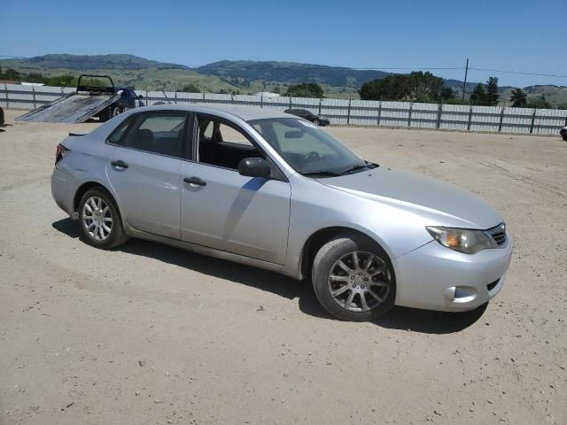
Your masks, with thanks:
[[[0,105],[34,109],[73,92],[72,88],[0,85]],[[331,124],[409,128],[446,128],[464,131],[494,131],[534,135],[557,135],[567,126],[567,111],[556,109],[420,104],[304,97],[260,97],[136,90],[146,104],[247,104],[284,111],[307,109],[324,115]]]

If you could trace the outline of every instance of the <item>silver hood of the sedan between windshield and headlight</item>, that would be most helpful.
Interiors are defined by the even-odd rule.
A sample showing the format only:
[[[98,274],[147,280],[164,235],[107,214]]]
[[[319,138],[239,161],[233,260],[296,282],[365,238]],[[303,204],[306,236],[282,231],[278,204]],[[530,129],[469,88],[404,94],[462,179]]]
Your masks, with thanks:
[[[438,226],[486,229],[502,222],[480,197],[422,174],[380,166],[318,182],[407,211],[421,210],[435,217]]]

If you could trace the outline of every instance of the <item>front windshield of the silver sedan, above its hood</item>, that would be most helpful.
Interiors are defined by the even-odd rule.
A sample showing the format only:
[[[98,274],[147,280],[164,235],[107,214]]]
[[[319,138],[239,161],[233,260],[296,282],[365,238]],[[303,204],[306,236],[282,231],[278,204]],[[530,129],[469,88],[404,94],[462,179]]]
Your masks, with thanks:
[[[299,174],[326,177],[375,166],[306,120],[274,118],[249,124]]]

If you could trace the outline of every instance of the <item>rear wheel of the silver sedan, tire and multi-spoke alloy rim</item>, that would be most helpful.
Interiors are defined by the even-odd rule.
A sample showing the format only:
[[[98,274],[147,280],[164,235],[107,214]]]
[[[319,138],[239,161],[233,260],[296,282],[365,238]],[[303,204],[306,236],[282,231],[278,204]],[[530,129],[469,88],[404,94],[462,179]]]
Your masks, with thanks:
[[[105,189],[89,189],[79,204],[82,239],[89,245],[110,250],[128,241],[113,197]]]

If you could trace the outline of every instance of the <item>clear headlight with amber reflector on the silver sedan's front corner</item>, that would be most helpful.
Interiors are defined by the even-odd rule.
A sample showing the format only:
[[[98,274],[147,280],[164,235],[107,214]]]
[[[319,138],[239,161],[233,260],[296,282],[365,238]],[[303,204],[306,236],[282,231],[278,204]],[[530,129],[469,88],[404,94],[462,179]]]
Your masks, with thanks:
[[[490,237],[483,230],[440,227],[427,227],[426,229],[433,239],[453,251],[475,254],[478,251],[493,248]]]

